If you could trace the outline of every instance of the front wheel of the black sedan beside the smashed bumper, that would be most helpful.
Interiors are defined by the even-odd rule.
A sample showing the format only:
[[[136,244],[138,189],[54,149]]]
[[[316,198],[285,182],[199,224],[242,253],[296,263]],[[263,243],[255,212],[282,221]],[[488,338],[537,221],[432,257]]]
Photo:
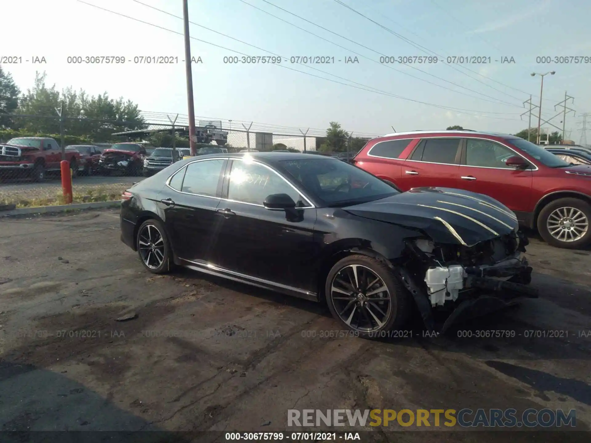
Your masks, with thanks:
[[[385,263],[365,255],[339,260],[324,287],[333,317],[364,338],[387,337],[408,320],[408,292]]]

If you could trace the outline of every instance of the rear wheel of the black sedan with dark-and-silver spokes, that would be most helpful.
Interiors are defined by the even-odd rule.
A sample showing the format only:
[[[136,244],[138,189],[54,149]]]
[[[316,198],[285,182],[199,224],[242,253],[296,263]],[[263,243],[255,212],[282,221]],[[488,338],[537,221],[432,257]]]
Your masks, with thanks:
[[[139,259],[148,271],[155,274],[167,273],[173,269],[173,253],[164,231],[158,220],[146,220],[139,226],[136,237]]]

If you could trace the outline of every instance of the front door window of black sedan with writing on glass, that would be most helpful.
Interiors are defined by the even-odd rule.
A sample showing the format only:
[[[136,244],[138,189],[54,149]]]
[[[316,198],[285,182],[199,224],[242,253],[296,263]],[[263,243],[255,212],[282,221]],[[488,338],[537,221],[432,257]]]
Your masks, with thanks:
[[[277,172],[257,163],[237,160],[232,163],[229,200],[262,206],[265,198],[271,194],[287,194],[296,202],[296,207],[310,206]]]

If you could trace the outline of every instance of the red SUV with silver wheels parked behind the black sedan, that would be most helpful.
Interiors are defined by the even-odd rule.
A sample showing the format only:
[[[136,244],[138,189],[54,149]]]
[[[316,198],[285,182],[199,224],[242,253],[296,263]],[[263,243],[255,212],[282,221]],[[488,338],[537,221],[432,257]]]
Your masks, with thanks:
[[[446,187],[486,194],[514,211],[522,226],[537,227],[551,245],[591,243],[591,166],[570,164],[514,135],[398,132],[369,141],[353,163],[402,191]]]

